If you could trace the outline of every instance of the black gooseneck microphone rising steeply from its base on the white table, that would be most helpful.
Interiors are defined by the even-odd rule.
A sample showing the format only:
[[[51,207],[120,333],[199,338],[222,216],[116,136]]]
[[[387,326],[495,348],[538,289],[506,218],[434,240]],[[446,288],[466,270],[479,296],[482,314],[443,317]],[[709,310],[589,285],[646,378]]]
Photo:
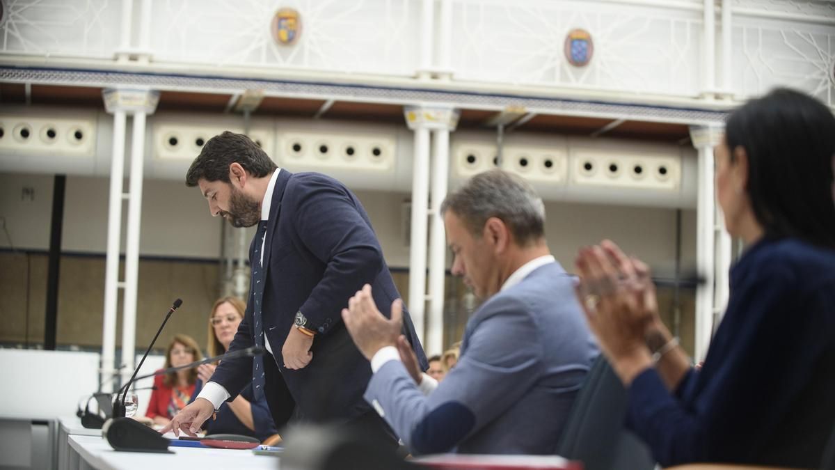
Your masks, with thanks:
[[[162,437],[162,434],[159,434],[159,432],[154,431],[154,429],[145,426],[139,421],[124,417],[124,399],[128,395],[130,384],[135,380],[136,374],[139,373],[139,369],[142,368],[145,362],[145,358],[148,357],[148,353],[154,347],[159,333],[162,332],[171,314],[176,309],[179,309],[182,304],[183,301],[181,299],[176,299],[174,304],[171,305],[168,314],[165,314],[165,319],[159,325],[159,330],[154,335],[154,339],[148,345],[148,350],[145,350],[142,360],[139,360],[139,365],[136,366],[134,375],[131,375],[130,380],[119,389],[113,401],[113,419],[104,423],[102,434],[104,434],[104,437],[107,437],[107,441],[114,450],[129,452],[170,452],[168,450],[168,439]]]

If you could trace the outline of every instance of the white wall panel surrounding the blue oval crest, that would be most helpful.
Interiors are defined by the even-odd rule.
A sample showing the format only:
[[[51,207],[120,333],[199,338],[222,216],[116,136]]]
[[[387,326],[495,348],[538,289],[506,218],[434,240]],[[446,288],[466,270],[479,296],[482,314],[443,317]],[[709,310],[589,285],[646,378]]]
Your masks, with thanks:
[[[457,0],[455,79],[654,94],[698,94],[701,18],[692,10],[609,2]],[[574,67],[566,34],[588,31],[594,55]]]

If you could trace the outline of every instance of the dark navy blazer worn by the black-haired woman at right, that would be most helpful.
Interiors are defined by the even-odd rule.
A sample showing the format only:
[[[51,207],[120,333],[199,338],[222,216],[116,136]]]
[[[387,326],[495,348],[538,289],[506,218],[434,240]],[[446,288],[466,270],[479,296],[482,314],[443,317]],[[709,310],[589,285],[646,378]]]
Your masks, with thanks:
[[[674,395],[654,369],[629,390],[629,424],[662,466],[817,468],[835,422],[835,250],[763,239],[731,269],[701,370]]]

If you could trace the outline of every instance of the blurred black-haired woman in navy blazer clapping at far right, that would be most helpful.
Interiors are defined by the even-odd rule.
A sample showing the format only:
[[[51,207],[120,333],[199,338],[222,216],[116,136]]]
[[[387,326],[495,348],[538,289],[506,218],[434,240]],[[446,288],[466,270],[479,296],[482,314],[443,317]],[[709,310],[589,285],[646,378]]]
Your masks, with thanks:
[[[777,89],[731,114],[715,156],[746,249],[701,370],[661,323],[645,264],[615,243],[580,250],[578,297],[663,466],[818,467],[835,427],[835,117]]]

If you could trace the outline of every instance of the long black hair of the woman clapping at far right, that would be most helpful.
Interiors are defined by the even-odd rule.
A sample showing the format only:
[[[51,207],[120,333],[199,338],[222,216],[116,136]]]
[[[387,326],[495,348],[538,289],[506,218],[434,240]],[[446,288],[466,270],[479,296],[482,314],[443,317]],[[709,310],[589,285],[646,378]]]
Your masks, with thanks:
[[[725,138],[748,156],[746,191],[766,235],[835,248],[835,116],[811,96],[775,89],[728,118]]]

